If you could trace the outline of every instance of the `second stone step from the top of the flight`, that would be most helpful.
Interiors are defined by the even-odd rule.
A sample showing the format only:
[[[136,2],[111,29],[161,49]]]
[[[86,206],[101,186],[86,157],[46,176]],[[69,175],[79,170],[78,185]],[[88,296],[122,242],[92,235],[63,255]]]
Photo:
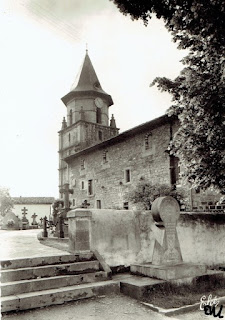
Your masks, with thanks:
[[[39,267],[2,270],[1,282],[29,280],[60,275],[80,274],[99,271],[99,262],[86,261],[65,264],[45,265]]]

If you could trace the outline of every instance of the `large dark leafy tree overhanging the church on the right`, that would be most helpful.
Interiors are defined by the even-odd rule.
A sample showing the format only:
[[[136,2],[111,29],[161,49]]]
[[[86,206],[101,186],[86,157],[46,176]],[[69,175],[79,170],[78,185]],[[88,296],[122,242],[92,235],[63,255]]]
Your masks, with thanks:
[[[225,2],[224,0],[113,0],[123,14],[147,25],[162,18],[179,49],[189,49],[180,75],[152,85],[172,95],[168,115],[180,128],[171,154],[179,157],[184,180],[225,194]]]

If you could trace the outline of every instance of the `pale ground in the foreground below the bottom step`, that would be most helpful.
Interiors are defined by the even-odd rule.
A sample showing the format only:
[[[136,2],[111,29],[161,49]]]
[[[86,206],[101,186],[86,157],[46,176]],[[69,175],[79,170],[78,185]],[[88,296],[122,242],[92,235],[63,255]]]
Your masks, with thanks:
[[[107,296],[3,316],[2,320],[169,320],[136,300]]]

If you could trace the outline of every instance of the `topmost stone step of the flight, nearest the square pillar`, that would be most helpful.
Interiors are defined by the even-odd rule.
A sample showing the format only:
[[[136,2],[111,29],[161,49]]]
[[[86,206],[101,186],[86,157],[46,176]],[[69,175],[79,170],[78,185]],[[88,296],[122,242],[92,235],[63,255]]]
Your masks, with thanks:
[[[18,268],[28,268],[28,267],[38,267],[44,265],[53,265],[61,263],[72,263],[81,261],[95,260],[92,252],[80,253],[79,255],[65,254],[58,256],[46,256],[46,257],[36,257],[36,258],[22,258],[22,259],[10,259],[1,261],[1,269],[18,269]]]

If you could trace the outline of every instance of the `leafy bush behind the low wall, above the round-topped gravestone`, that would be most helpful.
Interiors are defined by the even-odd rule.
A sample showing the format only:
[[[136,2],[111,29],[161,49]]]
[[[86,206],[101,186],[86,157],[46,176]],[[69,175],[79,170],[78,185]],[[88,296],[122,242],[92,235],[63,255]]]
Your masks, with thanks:
[[[144,210],[150,210],[152,202],[161,196],[172,196],[179,203],[184,202],[185,192],[180,189],[173,190],[166,184],[151,184],[149,182],[142,181],[132,190],[128,198],[131,202],[137,203],[139,207]]]

